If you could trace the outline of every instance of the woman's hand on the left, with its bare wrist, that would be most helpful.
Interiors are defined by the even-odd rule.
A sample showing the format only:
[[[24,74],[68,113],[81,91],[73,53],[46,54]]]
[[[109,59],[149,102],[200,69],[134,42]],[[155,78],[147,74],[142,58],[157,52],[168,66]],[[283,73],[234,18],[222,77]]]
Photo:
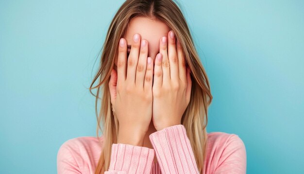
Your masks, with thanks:
[[[109,81],[111,104],[119,122],[118,142],[143,146],[152,119],[153,61],[148,57],[148,41],[139,34],[132,40],[127,59],[127,43],[118,45],[117,72]],[[149,63],[150,62],[150,63]]]

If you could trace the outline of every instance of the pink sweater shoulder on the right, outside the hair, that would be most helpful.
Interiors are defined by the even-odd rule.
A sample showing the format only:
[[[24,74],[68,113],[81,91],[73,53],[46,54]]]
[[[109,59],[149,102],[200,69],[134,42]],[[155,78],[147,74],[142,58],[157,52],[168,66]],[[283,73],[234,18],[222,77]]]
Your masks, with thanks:
[[[246,173],[246,148],[236,134],[208,133],[206,168],[214,172]]]

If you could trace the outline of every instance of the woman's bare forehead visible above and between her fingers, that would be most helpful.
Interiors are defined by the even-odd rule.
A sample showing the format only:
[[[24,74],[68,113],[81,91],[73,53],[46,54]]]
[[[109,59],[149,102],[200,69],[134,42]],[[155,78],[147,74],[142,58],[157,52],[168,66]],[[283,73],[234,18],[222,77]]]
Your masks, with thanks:
[[[124,38],[130,48],[132,38],[136,33],[141,36],[141,39],[146,39],[148,41],[148,57],[151,57],[154,62],[155,56],[159,52],[159,40],[162,36],[167,36],[169,31],[169,26],[158,19],[135,17],[130,21]],[[128,52],[130,52],[130,49],[128,49]],[[117,60],[115,64],[117,65]]]

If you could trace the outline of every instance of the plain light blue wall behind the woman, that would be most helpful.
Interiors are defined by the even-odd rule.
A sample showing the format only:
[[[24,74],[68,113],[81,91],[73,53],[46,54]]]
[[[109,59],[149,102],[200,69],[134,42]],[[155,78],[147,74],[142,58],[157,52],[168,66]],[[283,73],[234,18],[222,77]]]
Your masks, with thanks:
[[[88,87],[119,1],[0,0],[0,173],[54,174],[95,136]],[[207,71],[208,132],[237,134],[248,174],[304,173],[304,2],[180,0]]]

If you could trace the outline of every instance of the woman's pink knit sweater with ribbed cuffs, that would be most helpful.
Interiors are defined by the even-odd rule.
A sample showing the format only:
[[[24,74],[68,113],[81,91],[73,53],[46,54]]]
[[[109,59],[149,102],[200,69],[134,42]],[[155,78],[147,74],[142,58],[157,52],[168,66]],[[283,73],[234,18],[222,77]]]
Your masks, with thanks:
[[[110,167],[104,174],[198,174],[184,125],[152,133],[153,149],[112,144]],[[101,142],[103,138],[101,137]],[[57,154],[58,174],[94,174],[101,146],[96,137],[69,139]],[[202,174],[246,174],[246,150],[235,134],[208,134]],[[154,155],[157,163],[153,162]]]

